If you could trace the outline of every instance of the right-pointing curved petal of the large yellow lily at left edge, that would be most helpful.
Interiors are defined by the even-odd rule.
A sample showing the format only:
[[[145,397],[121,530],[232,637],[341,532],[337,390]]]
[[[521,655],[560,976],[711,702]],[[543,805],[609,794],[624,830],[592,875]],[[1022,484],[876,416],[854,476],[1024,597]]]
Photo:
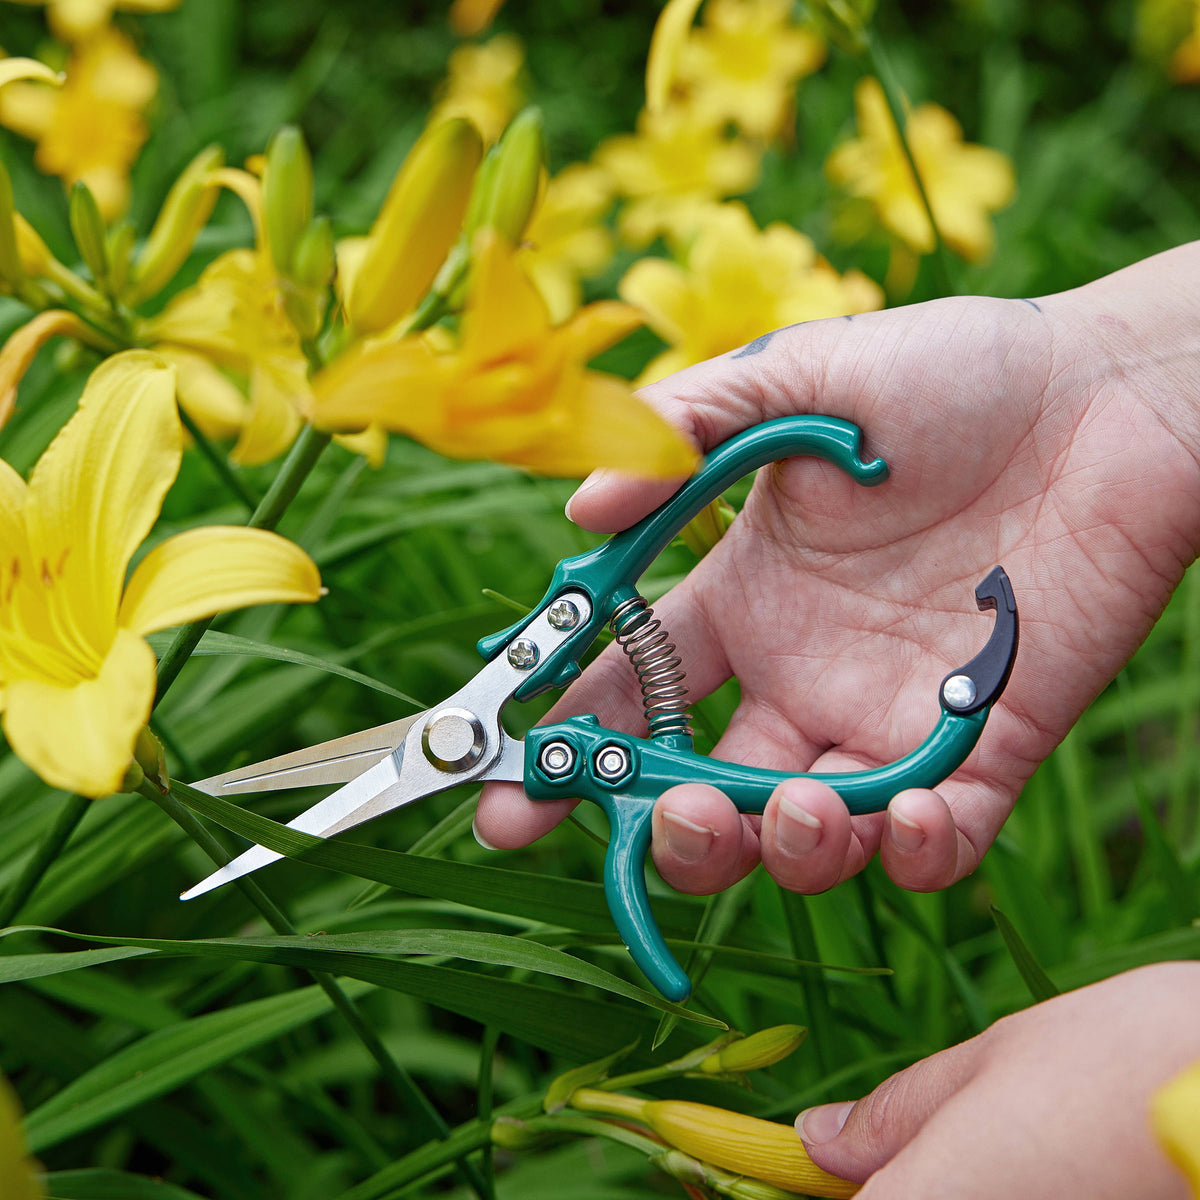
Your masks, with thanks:
[[[253,604],[304,604],[320,595],[320,575],[295,542],[265,529],[205,526],[160,542],[138,563],[120,624],[136,634]]]

